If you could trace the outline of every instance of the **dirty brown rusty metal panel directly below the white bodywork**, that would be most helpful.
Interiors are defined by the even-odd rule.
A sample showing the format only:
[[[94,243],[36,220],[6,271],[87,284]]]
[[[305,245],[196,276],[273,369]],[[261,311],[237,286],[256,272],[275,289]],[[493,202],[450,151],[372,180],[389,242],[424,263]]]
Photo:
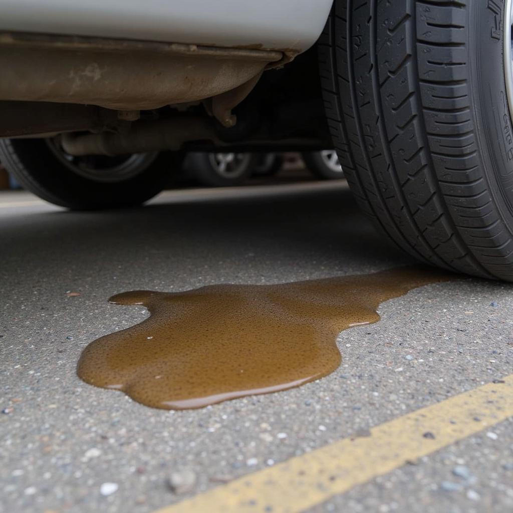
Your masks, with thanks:
[[[0,33],[0,99],[156,109],[238,88],[282,57],[248,48]]]

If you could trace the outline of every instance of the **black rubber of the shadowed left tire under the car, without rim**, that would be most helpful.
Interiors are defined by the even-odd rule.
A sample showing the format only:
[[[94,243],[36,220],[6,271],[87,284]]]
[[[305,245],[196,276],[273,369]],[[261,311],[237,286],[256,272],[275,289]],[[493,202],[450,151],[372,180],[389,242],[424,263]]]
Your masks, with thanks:
[[[74,210],[140,205],[164,189],[175,160],[162,153],[135,176],[100,182],[71,171],[44,139],[0,139],[0,161],[24,188]]]

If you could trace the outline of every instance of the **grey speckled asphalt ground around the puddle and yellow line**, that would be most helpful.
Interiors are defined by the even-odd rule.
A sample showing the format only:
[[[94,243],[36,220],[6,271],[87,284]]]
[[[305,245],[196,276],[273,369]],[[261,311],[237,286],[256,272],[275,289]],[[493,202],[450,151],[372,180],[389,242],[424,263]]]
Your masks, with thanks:
[[[168,191],[96,213],[6,192],[0,241],[0,511],[148,513],[513,373],[513,285],[468,278],[382,304],[379,323],[340,334],[337,371],[285,392],[173,412],[76,377],[89,342],[146,317],[114,293],[412,263],[345,182]],[[190,482],[173,491],[176,473]],[[510,512],[513,423],[309,510]]]

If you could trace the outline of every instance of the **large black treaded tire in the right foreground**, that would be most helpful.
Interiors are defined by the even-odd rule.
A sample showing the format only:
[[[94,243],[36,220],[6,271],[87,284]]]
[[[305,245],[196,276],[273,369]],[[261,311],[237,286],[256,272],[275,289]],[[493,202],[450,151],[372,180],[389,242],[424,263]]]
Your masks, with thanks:
[[[319,55],[333,140],[365,212],[421,260],[513,281],[499,5],[336,0]]]

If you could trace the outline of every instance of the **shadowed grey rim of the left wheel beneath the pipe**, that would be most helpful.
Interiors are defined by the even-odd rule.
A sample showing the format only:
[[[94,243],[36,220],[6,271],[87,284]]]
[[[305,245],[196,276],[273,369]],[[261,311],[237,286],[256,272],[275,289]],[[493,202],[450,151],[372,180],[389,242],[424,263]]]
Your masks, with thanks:
[[[94,182],[124,182],[141,174],[156,159],[158,153],[132,153],[110,157],[106,155],[73,156],[62,148],[58,137],[47,139],[48,147],[73,173]]]

